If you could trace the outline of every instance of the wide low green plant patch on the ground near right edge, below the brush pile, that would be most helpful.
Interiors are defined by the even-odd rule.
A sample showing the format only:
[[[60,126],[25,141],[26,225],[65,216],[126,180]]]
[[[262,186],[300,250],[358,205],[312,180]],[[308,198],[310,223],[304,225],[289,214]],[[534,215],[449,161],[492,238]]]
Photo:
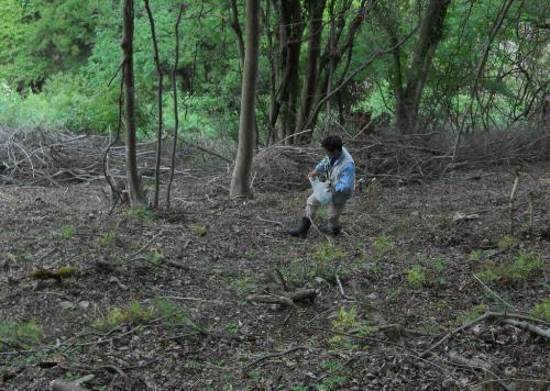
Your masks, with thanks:
[[[477,273],[482,280],[487,282],[520,282],[540,272],[544,267],[544,261],[539,254],[520,253],[512,261],[496,264],[490,260],[484,269]]]

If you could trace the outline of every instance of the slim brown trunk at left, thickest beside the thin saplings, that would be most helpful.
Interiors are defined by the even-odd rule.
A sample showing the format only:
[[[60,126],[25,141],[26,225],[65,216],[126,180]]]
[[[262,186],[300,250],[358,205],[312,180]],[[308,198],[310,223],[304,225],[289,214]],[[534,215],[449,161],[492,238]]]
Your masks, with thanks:
[[[144,205],[135,154],[135,93],[133,67],[134,2],[124,0],[122,54],[124,56],[124,124],[127,127],[127,180],[130,202],[133,206]]]

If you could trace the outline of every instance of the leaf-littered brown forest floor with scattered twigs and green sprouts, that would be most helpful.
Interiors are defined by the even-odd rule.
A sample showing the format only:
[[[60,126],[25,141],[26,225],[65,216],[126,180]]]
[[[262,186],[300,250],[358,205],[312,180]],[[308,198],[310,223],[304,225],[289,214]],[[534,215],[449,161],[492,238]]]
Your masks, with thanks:
[[[521,324],[548,334],[550,164],[524,167],[514,235],[509,167],[371,182],[334,239],[284,234],[307,190],[231,201],[208,172],[157,215],[109,215],[100,186],[0,188],[1,389],[548,389]]]

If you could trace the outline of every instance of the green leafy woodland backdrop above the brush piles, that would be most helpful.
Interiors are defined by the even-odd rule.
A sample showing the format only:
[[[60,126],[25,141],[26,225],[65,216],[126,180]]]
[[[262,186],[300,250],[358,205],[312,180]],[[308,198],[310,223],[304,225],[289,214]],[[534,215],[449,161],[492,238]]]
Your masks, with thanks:
[[[151,9],[170,91],[179,2],[157,0]],[[116,129],[121,3],[4,0],[2,10],[0,125]],[[538,0],[263,1],[258,142],[323,123],[359,131],[371,120],[403,132],[455,131],[466,111],[466,129],[536,123],[550,110],[549,14]],[[237,141],[244,19],[242,1],[185,3],[176,69],[183,137]],[[140,1],[134,68],[139,137],[153,138],[157,71]],[[169,93],[164,105],[169,131]]]

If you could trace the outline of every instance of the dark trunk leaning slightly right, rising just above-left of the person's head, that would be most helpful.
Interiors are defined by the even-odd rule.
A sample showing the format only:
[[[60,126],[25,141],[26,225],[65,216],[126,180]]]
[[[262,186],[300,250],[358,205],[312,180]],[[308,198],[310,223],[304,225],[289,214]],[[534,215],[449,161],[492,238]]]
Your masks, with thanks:
[[[296,122],[295,133],[305,131],[306,124],[309,122],[309,115],[315,101],[317,90],[317,74],[319,62],[321,33],[322,33],[322,14],[324,12],[326,0],[308,0],[309,5],[309,40],[308,40],[308,59],[306,64],[306,74],[304,76],[304,86],[301,88],[300,110]],[[300,135],[300,142],[308,143],[311,139],[312,130]]]

